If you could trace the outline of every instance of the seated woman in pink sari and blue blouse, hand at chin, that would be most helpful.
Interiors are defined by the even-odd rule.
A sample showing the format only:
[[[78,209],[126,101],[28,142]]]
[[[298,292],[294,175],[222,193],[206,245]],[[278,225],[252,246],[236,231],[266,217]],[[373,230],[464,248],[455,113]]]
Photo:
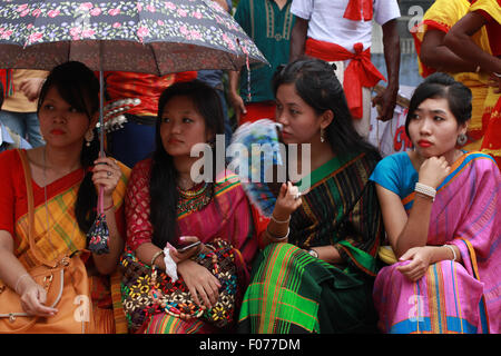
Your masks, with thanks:
[[[501,176],[490,156],[456,148],[470,117],[470,89],[428,77],[405,121],[415,149],[371,176],[397,258],[374,286],[384,333],[500,332]]]

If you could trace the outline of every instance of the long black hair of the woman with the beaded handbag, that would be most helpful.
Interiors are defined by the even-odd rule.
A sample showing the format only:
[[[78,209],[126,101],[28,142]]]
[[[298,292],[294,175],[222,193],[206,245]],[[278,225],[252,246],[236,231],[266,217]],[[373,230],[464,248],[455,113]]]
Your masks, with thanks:
[[[175,241],[177,236],[177,191],[178,172],[174,166],[173,157],[167,154],[161,142],[161,115],[167,102],[174,97],[188,97],[193,100],[196,110],[205,119],[205,129],[216,137],[224,134],[224,116],[219,97],[215,89],[199,80],[177,82],[160,96],[158,101],[158,120],[155,135],[156,150],[153,154],[151,177],[149,180],[150,221],[154,227],[153,244],[164,248]],[[213,181],[208,182],[213,189],[217,167],[217,155],[213,151]]]

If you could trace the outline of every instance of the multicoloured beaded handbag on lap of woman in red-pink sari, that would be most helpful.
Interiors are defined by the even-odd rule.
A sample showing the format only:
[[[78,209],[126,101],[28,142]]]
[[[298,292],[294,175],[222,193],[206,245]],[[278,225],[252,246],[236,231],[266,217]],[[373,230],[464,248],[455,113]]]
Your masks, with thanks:
[[[233,324],[238,289],[236,250],[223,239],[206,244],[209,254],[199,254],[193,259],[210,270],[219,280],[219,298],[210,309],[200,308],[191,299],[183,277],[175,283],[158,268],[151,268],[137,259],[130,249],[121,256],[121,301],[129,329],[135,332],[149,320],[151,315],[167,313],[174,317],[203,318],[216,327]]]

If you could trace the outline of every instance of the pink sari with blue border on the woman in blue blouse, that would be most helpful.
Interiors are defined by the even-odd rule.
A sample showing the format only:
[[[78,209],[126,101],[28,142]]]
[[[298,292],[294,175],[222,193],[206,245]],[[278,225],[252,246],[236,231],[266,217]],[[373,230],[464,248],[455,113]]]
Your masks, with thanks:
[[[428,245],[454,244],[462,263],[431,265],[416,283],[396,270],[406,261],[384,267],[373,294],[384,333],[501,333],[501,175],[480,152],[452,168],[438,189]]]

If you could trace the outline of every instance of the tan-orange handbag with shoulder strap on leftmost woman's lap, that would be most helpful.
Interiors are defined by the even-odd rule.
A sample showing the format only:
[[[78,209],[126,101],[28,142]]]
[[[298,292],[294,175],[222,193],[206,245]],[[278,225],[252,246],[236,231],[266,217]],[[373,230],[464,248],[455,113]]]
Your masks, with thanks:
[[[88,306],[80,306],[78,301],[84,299],[81,296],[88,296],[89,285],[86,267],[79,257],[65,256],[59,260],[48,261],[38,253],[33,236],[35,205],[31,172],[26,152],[21,150],[18,152],[24,169],[28,190],[29,245],[37,260],[37,266],[29,269],[28,273],[37,284],[46,289],[46,305],[57,308],[58,313],[49,318],[28,315],[21,307],[20,296],[0,280],[0,334],[85,332],[85,327],[88,325],[86,322],[89,322],[90,318],[90,303]],[[67,275],[71,275],[71,278]],[[88,307],[88,313],[79,315],[78,312],[81,312],[79,307]],[[37,323],[41,320],[43,323]]]

